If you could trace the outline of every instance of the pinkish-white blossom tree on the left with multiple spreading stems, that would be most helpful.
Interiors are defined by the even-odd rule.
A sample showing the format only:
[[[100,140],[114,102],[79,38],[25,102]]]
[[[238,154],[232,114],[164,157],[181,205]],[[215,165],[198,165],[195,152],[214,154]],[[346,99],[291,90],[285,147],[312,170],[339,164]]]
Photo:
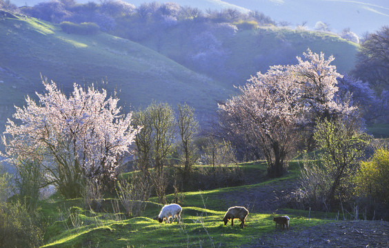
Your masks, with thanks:
[[[94,85],[84,90],[74,83],[66,97],[53,81],[42,82],[46,93],[36,93],[39,103],[27,96],[26,106],[15,107],[16,121],[8,119],[6,156],[16,165],[40,161],[48,184],[66,197],[79,196],[86,178],[109,186],[139,131],[132,113],[122,114],[119,99]]]

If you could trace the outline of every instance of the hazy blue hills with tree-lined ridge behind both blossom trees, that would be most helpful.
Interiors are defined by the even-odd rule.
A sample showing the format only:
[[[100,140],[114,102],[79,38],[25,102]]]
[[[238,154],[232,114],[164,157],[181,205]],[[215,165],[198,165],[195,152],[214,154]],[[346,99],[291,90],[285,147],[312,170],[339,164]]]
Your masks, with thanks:
[[[195,108],[203,125],[215,114],[217,102],[235,94],[234,85],[246,83],[256,72],[266,72],[271,65],[297,63],[296,56],[310,48],[326,57],[335,56],[338,72],[347,74],[355,67],[359,49],[357,43],[334,33],[277,26],[261,12],[254,16],[246,9],[230,13],[225,8],[231,6],[221,1],[196,1],[194,7],[203,4],[201,8],[207,9],[206,4],[212,3],[223,8],[204,10],[198,16],[189,11],[194,7],[182,8],[185,1],[178,1],[181,7],[148,5],[144,17],[134,7],[129,12],[110,12],[102,3],[83,2],[21,8],[46,21],[2,17],[0,121],[11,116],[13,105],[24,104],[26,94],[43,90],[43,75],[65,92],[74,82],[108,81],[103,87],[110,92],[120,90],[121,103],[131,105],[132,110],[152,100],[173,106],[186,102]],[[132,3],[139,6],[142,2]],[[274,5],[275,1],[262,3]],[[277,6],[287,3],[277,1]],[[71,34],[61,28],[63,21],[94,22],[100,31]]]

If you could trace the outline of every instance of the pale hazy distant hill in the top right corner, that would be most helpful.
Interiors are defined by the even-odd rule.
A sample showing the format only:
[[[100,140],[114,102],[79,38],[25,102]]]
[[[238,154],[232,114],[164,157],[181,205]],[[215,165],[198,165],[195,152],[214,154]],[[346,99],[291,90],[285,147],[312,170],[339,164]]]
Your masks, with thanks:
[[[315,28],[317,21],[328,23],[332,32],[350,28],[358,36],[374,32],[389,23],[386,0],[224,0],[250,10],[259,10],[276,21]]]

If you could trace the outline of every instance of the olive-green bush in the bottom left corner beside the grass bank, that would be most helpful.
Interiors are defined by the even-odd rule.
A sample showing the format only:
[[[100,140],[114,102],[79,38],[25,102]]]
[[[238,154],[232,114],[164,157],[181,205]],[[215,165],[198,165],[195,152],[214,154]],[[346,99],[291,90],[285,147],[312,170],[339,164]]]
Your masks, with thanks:
[[[0,247],[39,247],[43,229],[36,214],[19,201],[0,203]]]

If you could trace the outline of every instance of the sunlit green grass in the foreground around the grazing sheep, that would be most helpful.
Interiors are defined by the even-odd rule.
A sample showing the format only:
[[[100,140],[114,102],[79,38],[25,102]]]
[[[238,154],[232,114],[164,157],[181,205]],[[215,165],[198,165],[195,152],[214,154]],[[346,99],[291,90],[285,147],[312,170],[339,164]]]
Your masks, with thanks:
[[[247,167],[249,173],[255,169],[265,169],[263,163],[244,163],[240,166]],[[41,202],[41,210],[50,223],[43,247],[237,247],[263,234],[281,235],[272,221],[273,213],[251,212],[244,229],[239,227],[239,220],[235,220],[233,227],[230,222],[225,226],[222,219],[226,209],[231,206],[223,200],[223,196],[233,192],[244,193],[248,189],[260,190],[261,187],[268,187],[269,183],[294,180],[298,174],[299,169],[292,165],[288,175],[264,179],[254,185],[183,192],[180,224],[157,221],[161,205],[156,197],[150,198],[141,217],[126,218],[124,214],[115,214],[114,211],[96,213],[83,210],[81,199],[63,200],[52,196]],[[172,195],[168,195],[168,202],[172,198]],[[295,232],[331,222],[335,217],[314,211],[282,210],[291,219],[290,231]]]

